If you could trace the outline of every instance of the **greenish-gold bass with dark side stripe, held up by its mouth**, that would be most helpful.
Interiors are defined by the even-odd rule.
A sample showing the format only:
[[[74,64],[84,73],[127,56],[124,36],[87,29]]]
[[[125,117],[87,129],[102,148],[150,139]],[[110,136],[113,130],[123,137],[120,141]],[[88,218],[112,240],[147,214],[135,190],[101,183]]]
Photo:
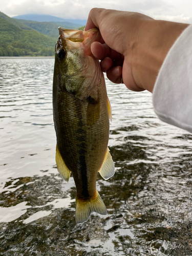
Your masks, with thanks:
[[[91,212],[106,215],[96,179],[115,173],[108,148],[111,104],[99,61],[91,44],[99,41],[97,28],[82,31],[59,27],[53,75],[53,119],[56,132],[56,164],[68,182],[76,185],[76,223],[86,222]]]

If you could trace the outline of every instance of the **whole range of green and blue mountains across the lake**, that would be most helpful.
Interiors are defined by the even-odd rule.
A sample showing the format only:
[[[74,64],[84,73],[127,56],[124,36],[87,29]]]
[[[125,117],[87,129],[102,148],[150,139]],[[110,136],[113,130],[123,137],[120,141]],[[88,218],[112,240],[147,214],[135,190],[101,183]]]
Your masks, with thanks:
[[[77,29],[79,25],[63,21],[33,22],[0,12],[0,56],[53,56],[59,26]]]

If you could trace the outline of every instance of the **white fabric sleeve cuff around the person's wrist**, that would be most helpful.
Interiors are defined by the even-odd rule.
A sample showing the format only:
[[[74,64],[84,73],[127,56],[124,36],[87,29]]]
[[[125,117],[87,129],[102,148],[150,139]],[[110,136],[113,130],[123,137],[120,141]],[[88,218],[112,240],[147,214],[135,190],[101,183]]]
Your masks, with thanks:
[[[153,105],[159,119],[192,133],[192,25],[177,38],[163,62]]]

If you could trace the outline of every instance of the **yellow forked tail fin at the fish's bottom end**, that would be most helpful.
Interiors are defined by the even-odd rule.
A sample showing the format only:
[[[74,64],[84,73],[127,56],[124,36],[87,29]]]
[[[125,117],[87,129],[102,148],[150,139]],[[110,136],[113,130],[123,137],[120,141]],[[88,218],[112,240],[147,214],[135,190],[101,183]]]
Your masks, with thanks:
[[[76,223],[86,222],[89,219],[92,211],[102,215],[107,214],[106,206],[104,205],[98,191],[97,196],[94,199],[89,199],[86,201],[76,199]]]

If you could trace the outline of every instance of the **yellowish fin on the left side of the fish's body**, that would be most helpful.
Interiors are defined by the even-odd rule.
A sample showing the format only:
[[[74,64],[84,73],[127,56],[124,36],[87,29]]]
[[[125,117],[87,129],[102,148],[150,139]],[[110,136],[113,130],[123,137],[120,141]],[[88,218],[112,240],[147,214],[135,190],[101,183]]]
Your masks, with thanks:
[[[69,181],[71,171],[67,167],[66,163],[62,159],[62,156],[59,152],[58,146],[56,146],[56,156],[55,156],[56,164],[57,164],[57,169],[59,174],[65,179],[65,181]]]

